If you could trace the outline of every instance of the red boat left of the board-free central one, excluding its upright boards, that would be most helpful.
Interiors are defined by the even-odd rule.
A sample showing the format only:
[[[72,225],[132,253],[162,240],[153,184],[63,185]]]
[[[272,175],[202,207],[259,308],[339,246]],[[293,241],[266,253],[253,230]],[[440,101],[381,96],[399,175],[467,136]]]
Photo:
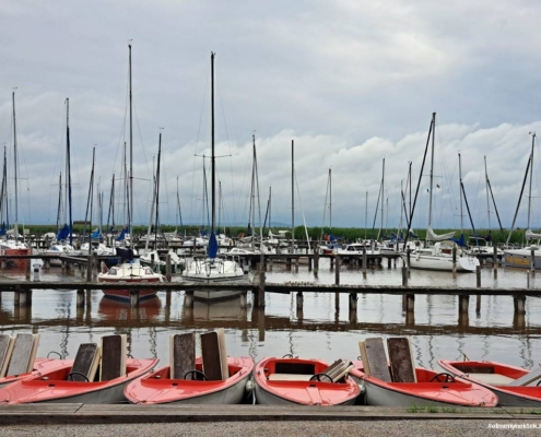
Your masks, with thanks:
[[[254,370],[251,357],[227,357],[228,375],[225,380],[170,379],[170,366],[136,379],[125,389],[125,397],[132,403],[196,403],[237,404],[246,397],[246,383]],[[202,375],[201,358],[196,359],[191,378]],[[188,375],[185,375],[185,378]]]

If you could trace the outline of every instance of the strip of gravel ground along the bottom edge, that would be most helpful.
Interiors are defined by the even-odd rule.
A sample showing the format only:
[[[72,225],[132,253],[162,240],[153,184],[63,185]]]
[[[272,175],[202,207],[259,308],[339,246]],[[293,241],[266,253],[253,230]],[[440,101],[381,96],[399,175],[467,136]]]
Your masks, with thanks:
[[[539,429],[491,428],[515,425],[539,426]],[[354,437],[354,436],[540,436],[541,421],[435,420],[435,421],[351,421],[351,422],[220,422],[127,425],[19,425],[0,426],[0,436],[39,437]]]

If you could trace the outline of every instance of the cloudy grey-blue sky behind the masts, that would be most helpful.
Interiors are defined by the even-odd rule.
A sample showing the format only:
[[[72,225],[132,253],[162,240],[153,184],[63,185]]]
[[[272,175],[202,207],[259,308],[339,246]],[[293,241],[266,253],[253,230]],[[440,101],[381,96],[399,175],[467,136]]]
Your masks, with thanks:
[[[503,227],[511,226],[519,200],[515,227],[526,227],[531,199],[530,227],[539,229],[537,145],[531,196],[529,180],[520,192],[530,132],[541,133],[540,19],[541,3],[527,0],[457,0],[445,8],[423,0],[0,1],[10,212],[14,91],[17,221],[56,225],[66,98],[73,217],[85,216],[95,147],[93,223],[99,192],[107,222],[113,175],[115,222],[126,221],[120,187],[131,42],[136,224],[150,221],[160,134],[160,222],[179,224],[179,210],[184,224],[208,222],[203,161],[209,172],[210,160],[202,155],[211,153],[215,52],[221,225],[248,223],[255,137],[260,210],[264,216],[271,193],[272,224],[292,222],[293,141],[296,225],[398,228],[411,163],[412,198],[421,180],[413,227],[425,228],[430,156],[420,174],[436,113],[433,227],[498,227],[486,168]]]

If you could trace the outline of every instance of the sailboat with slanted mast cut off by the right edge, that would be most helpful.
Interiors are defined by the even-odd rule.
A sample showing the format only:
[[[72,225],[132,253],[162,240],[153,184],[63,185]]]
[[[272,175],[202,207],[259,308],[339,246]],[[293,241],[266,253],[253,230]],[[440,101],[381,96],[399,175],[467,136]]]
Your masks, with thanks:
[[[515,217],[513,218],[511,231],[509,232],[509,236],[507,237],[507,246],[509,244],[509,239],[515,228],[515,221],[517,220],[518,210],[520,208],[520,199],[522,198],[522,192],[526,184],[526,179],[528,177],[528,172],[530,172],[530,184],[528,188],[528,224],[526,228],[526,240],[536,240],[536,243],[530,244],[527,247],[521,249],[505,249],[504,250],[504,262],[505,265],[508,267],[519,267],[519,268],[534,268],[541,269],[541,250],[539,249],[539,244],[541,241],[541,234],[533,233],[530,227],[530,216],[531,216],[531,185],[533,179],[533,150],[536,147],[536,132],[530,132],[531,134],[531,153],[528,160],[528,166],[526,167],[526,175],[522,182],[522,189],[520,191],[520,197],[518,200],[517,209],[515,211]],[[533,256],[533,264],[531,265],[531,258]]]

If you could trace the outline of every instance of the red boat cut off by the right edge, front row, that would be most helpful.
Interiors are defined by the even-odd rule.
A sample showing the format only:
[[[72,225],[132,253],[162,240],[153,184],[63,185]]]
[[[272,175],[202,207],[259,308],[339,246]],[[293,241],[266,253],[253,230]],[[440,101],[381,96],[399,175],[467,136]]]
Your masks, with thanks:
[[[499,399],[501,406],[541,406],[541,368],[532,371],[495,362],[438,359],[449,374],[483,386]]]

